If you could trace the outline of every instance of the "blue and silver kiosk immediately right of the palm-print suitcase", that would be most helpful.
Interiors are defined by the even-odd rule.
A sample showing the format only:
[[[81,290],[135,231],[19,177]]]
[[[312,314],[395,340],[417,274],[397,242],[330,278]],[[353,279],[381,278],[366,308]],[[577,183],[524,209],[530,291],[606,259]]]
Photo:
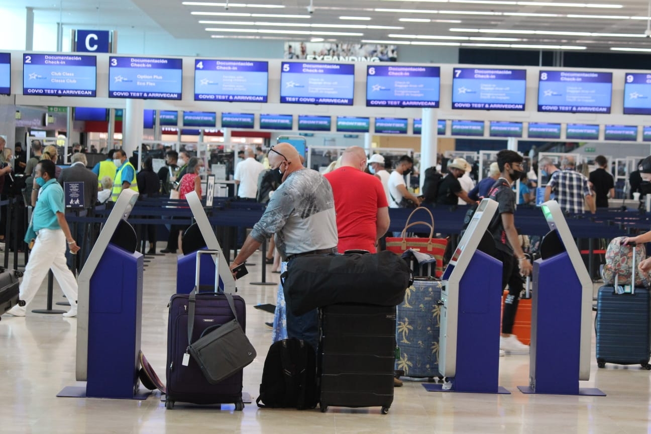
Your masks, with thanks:
[[[502,263],[490,256],[488,232],[495,211],[497,202],[482,200],[443,273],[439,372],[454,392],[508,393],[497,384]]]

